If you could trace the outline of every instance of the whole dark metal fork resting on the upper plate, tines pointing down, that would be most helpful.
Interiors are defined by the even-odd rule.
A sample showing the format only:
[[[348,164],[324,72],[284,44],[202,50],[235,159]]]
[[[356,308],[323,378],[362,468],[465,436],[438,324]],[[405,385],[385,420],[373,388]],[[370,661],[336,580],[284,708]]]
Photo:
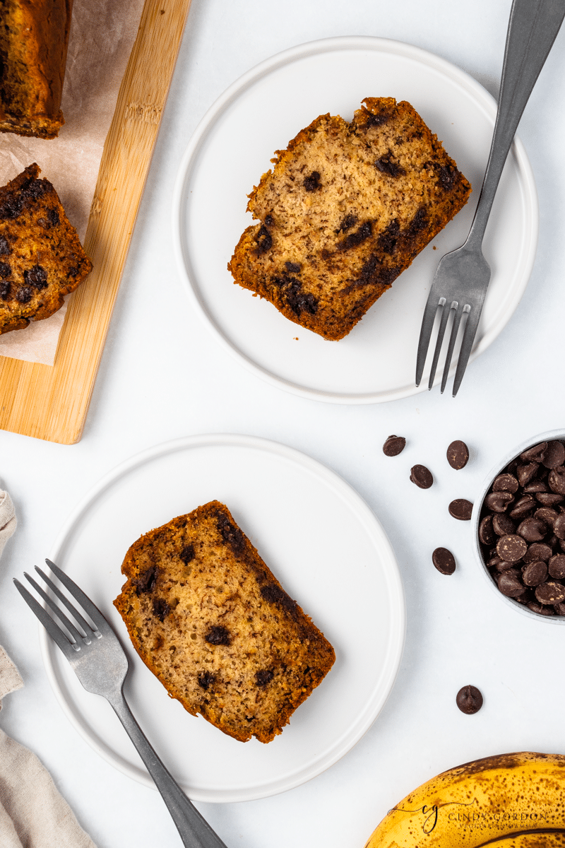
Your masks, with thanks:
[[[435,272],[418,342],[417,386],[424,373],[429,340],[438,309],[440,309],[440,326],[429,373],[428,388],[432,388],[434,384],[435,370],[440,359],[441,345],[451,312],[453,312],[453,324],[441,380],[441,392],[443,393],[446,388],[457,333],[463,315],[466,314],[468,317],[453,382],[453,397],[457,394],[463,380],[485,303],[486,289],[490,282],[490,267],[481,250],[486,223],[489,220],[496,188],[518,122],[557,37],[563,17],[565,17],[565,0],[514,0],[512,3],[502,65],[498,112],[485,180],[467,241],[461,248],[446,254],[440,260],[440,265]]]

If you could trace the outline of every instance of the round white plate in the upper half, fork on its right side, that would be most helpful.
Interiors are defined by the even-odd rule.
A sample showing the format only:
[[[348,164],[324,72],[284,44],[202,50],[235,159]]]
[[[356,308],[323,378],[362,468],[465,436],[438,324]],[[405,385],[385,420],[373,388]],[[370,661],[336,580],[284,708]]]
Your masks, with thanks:
[[[253,222],[246,195],[271,167],[274,151],[319,114],[352,120],[366,97],[412,103],[474,192],[363,321],[346,338],[328,342],[235,286],[226,265],[241,232]],[[471,76],[402,42],[331,38],[259,64],[209,109],[180,165],[174,241],[191,304],[243,365],[292,393],[363,404],[424,391],[427,377],[420,388],[414,386],[424,305],[441,256],[468,235],[495,117],[494,99]],[[484,253],[492,276],[471,360],[488,348],[516,309],[534,262],[537,232],[534,178],[516,141],[486,231]],[[456,365],[457,360],[451,371]]]

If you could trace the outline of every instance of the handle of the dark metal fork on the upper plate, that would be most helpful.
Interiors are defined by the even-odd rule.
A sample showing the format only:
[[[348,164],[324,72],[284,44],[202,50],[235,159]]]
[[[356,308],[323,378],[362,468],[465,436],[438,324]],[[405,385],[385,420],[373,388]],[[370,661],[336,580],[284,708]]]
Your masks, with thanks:
[[[465,243],[479,249],[512,139],[565,17],[565,0],[514,0],[485,181]]]

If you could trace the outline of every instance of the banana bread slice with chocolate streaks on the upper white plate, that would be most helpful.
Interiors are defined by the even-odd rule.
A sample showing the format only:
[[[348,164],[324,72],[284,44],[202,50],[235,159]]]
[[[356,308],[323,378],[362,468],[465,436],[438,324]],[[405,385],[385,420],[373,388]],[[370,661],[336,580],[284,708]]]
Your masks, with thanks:
[[[228,269],[324,338],[343,338],[467,203],[471,186],[415,109],[366,98],[275,151]]]

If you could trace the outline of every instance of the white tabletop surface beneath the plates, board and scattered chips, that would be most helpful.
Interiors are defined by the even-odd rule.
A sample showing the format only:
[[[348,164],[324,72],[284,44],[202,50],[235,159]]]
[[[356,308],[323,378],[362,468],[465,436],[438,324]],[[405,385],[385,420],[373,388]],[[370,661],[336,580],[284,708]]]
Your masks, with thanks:
[[[435,389],[391,404],[344,406],[260,382],[191,314],[170,232],[170,198],[191,132],[224,88],[254,64],[313,39],[383,36],[438,53],[496,92],[509,8],[509,0],[192,2],[84,436],[63,446],[0,432],[0,485],[19,515],[0,564],[0,644],[25,678],[25,689],[5,700],[0,724],[42,758],[99,848],[173,848],[180,841],[158,793],[116,772],[69,725],[12,577],[41,563],[65,517],[103,473],[136,451],[185,435],[250,433],[337,471],[379,516],[407,599],[396,685],[373,727],[341,762],[284,795],[199,805],[228,848],[363,848],[385,812],[435,773],[504,751],[565,753],[565,628],[507,609],[479,573],[469,525],[446,511],[455,497],[473,500],[512,445],[565,424],[565,32],[519,128],[540,198],[534,271],[507,328],[469,366],[457,399]],[[368,94],[386,94],[378,80],[367,87]],[[155,298],[166,323],[155,321]],[[408,441],[395,459],[381,451],[391,432]],[[454,438],[471,449],[467,468],[458,472],[445,460]],[[435,474],[427,492],[408,482],[416,462]],[[457,556],[452,577],[431,565],[439,544]],[[345,567],[337,579],[355,591],[347,587]],[[485,695],[474,717],[454,703],[466,683]]]

